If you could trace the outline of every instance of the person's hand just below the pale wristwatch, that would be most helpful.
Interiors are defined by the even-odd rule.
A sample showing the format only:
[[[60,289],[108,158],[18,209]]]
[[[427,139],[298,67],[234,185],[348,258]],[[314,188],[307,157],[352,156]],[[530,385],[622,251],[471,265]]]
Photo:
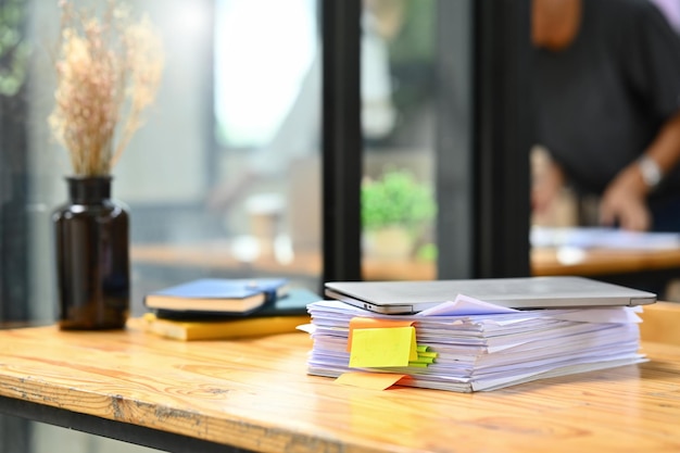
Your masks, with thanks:
[[[652,215],[646,204],[648,189],[635,166],[626,168],[606,188],[600,203],[600,223],[631,231],[646,231]]]

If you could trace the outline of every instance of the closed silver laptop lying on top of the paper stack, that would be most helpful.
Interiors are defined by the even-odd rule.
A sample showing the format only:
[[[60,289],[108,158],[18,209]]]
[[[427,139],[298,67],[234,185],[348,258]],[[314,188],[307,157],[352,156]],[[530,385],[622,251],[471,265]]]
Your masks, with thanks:
[[[584,277],[482,278],[432,281],[329,281],[325,294],[383,314],[412,314],[465,294],[498,305],[529,309],[634,306],[656,294]]]

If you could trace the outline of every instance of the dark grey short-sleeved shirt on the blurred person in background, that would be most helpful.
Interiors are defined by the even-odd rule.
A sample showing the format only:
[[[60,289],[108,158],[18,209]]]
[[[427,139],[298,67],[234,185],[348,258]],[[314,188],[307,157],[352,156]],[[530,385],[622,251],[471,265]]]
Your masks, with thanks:
[[[575,188],[601,194],[680,109],[680,38],[646,0],[584,0],[562,51],[537,49],[538,143]],[[653,197],[680,198],[680,167]]]

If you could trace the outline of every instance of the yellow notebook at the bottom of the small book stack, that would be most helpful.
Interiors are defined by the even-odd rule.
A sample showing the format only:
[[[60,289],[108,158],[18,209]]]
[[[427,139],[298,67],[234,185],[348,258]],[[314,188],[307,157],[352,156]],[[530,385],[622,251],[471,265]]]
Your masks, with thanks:
[[[241,337],[259,337],[295,331],[295,327],[308,324],[308,315],[262,316],[228,320],[175,320],[161,319],[146,313],[139,319],[144,331],[175,340],[224,340]]]

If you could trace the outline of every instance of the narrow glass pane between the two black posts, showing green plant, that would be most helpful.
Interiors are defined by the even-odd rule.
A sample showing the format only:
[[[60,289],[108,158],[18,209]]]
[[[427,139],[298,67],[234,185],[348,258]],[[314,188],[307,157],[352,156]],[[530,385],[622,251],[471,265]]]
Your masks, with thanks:
[[[364,2],[365,279],[435,278],[435,0]]]

